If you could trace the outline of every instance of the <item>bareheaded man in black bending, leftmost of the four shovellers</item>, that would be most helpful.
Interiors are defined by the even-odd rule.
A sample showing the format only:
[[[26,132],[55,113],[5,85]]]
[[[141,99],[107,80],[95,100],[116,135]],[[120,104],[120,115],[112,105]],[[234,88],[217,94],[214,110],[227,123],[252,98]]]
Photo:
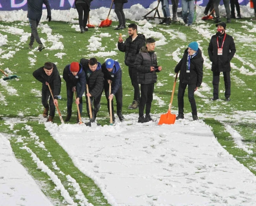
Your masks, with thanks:
[[[43,67],[40,67],[33,72],[33,76],[39,82],[42,82],[42,104],[44,106],[43,117],[46,118],[48,116],[48,112],[50,109],[50,114],[47,121],[53,121],[53,118],[55,116],[55,105],[58,106],[57,99],[60,95],[61,89],[61,79],[59,71],[57,70],[57,67],[54,63],[45,62]],[[50,85],[53,92],[54,100],[51,96],[48,84]],[[49,97],[50,100],[48,104]]]

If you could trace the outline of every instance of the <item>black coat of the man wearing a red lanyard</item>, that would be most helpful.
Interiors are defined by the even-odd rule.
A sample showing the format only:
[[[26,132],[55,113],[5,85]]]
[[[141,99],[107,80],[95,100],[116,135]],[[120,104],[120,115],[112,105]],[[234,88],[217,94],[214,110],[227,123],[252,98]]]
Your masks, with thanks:
[[[224,34],[219,35],[218,32],[212,36],[208,46],[208,54],[210,61],[212,62],[212,71],[231,71],[230,61],[236,53],[236,46],[232,36],[226,34],[226,38],[223,44],[222,55],[218,55],[217,36],[219,39],[219,48],[223,43]]]

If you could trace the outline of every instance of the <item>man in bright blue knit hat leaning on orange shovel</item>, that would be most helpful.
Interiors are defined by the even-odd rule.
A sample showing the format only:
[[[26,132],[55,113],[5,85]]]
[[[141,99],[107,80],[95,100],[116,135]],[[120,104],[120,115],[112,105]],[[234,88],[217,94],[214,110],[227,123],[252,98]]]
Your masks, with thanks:
[[[176,119],[184,119],[184,93],[188,86],[188,100],[190,102],[193,120],[197,117],[196,101],[194,92],[201,86],[203,79],[203,57],[197,42],[191,42],[185,49],[181,61],[176,65],[174,72],[179,73],[178,89],[178,116]]]

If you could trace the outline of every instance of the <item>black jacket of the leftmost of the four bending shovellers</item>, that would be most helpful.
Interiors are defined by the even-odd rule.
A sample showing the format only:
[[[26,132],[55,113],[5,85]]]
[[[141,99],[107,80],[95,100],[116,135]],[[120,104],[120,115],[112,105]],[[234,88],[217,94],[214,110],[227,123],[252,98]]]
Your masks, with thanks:
[[[42,90],[48,90],[48,85],[45,84],[45,82],[48,82],[51,90],[53,91],[54,99],[58,99],[57,95],[60,94],[60,88],[61,88],[61,79],[59,71],[57,70],[57,67],[54,63],[53,64],[53,72],[50,76],[48,76],[45,71],[44,67],[40,67],[39,69],[35,70],[33,72],[33,76],[39,81],[42,82]]]

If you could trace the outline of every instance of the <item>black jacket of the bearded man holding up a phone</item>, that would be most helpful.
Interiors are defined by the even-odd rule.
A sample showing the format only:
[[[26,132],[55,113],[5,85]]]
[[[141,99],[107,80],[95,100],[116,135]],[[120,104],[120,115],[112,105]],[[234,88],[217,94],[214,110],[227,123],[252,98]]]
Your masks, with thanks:
[[[132,41],[132,37],[128,37],[125,42],[118,42],[117,47],[119,51],[125,52],[124,63],[128,67],[134,67],[134,62],[139,54],[142,46],[146,45],[146,38],[143,34],[138,33],[138,37]]]

